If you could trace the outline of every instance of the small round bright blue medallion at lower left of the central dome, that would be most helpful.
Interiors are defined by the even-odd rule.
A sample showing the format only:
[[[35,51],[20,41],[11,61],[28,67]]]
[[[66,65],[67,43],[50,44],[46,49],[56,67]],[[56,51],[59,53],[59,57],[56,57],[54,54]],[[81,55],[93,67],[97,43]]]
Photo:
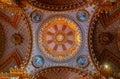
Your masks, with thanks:
[[[43,57],[40,56],[40,55],[34,56],[34,57],[32,58],[32,64],[33,64],[34,67],[37,67],[37,68],[43,66],[43,64],[44,64],[44,59],[43,59]]]

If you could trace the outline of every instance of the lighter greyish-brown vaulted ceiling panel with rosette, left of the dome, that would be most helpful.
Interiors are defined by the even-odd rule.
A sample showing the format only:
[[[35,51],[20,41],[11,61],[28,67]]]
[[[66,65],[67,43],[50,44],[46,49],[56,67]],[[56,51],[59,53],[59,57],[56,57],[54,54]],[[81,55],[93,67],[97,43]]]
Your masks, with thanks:
[[[17,12],[18,9],[21,13]],[[31,56],[31,27],[22,10],[19,7],[17,10],[9,7],[9,10],[0,12],[0,46],[2,46],[0,49],[3,48],[5,40],[5,48],[0,57],[0,71],[8,71],[14,66],[20,67],[21,64],[25,65]]]

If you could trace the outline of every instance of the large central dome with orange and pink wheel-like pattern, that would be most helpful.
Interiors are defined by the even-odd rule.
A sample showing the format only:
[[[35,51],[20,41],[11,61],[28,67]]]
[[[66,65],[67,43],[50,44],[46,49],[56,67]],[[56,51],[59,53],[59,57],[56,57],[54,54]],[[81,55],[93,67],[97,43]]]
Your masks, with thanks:
[[[81,29],[64,17],[49,19],[38,31],[40,49],[54,61],[72,58],[81,47],[81,39]]]

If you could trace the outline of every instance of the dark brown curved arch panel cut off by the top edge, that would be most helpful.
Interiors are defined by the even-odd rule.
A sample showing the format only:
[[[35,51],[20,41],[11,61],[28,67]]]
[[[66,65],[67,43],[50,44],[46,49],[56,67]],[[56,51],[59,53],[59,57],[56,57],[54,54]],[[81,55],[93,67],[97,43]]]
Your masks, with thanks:
[[[41,9],[53,11],[71,10],[87,4],[86,0],[28,0],[28,2]]]

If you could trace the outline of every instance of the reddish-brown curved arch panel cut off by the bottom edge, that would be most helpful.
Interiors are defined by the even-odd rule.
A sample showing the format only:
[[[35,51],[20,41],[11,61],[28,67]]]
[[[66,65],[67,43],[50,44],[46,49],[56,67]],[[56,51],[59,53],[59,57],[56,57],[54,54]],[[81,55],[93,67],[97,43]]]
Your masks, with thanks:
[[[93,79],[90,74],[71,67],[49,67],[32,75],[35,79]]]

